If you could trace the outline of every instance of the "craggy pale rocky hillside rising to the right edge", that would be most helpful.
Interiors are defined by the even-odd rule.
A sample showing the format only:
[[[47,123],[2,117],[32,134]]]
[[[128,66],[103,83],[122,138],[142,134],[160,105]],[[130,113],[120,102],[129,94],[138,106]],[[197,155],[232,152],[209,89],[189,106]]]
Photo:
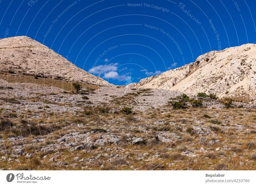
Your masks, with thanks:
[[[244,44],[199,56],[194,63],[140,80],[128,87],[198,92],[218,97],[256,99],[256,45]]]

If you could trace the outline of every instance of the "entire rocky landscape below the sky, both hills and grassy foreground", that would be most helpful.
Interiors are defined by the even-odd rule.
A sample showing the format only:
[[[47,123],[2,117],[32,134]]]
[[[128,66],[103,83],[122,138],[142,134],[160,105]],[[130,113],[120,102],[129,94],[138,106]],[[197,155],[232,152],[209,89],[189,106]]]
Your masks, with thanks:
[[[0,39],[1,170],[255,170],[255,44],[127,86]]]

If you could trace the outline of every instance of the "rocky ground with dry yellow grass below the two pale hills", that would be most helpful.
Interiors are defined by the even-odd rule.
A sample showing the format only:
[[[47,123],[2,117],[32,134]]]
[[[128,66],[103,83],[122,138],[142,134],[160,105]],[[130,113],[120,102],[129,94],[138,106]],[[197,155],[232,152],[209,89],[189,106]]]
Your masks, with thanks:
[[[255,105],[181,94],[3,72],[0,169],[255,170]]]

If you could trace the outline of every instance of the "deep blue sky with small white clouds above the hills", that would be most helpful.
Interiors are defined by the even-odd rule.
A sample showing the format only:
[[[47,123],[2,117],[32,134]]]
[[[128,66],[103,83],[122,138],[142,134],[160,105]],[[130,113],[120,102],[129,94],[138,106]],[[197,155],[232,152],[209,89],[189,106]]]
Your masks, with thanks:
[[[126,85],[256,43],[256,0],[0,0],[0,38],[27,35]]]

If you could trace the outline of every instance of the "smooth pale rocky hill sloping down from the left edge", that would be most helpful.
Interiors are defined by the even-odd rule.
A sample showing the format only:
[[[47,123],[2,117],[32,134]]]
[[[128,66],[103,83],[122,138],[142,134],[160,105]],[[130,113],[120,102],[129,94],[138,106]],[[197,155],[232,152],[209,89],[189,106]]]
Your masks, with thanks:
[[[14,73],[37,74],[67,81],[112,86],[102,78],[76,67],[66,58],[27,36],[0,39],[0,69]]]

